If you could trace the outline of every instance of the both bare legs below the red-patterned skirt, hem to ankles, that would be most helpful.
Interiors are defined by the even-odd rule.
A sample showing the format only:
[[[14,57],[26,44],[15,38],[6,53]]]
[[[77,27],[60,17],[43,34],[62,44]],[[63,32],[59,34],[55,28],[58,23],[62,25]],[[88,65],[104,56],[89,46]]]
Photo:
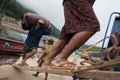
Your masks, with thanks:
[[[67,57],[75,50],[77,50],[80,46],[82,46],[95,32],[79,32],[76,33],[70,42],[65,43],[66,40],[58,40],[54,49],[50,53],[49,58],[43,63],[43,66],[48,66],[53,58],[60,53],[59,58],[67,59]],[[67,46],[65,47],[65,45]],[[61,52],[62,51],[62,52]]]

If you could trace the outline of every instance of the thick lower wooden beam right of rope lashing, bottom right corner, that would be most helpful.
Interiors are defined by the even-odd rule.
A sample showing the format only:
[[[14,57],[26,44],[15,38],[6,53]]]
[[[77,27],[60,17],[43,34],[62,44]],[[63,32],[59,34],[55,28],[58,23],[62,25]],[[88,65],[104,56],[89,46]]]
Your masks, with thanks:
[[[113,71],[85,71],[79,72],[78,75],[95,80],[120,80],[120,72]]]

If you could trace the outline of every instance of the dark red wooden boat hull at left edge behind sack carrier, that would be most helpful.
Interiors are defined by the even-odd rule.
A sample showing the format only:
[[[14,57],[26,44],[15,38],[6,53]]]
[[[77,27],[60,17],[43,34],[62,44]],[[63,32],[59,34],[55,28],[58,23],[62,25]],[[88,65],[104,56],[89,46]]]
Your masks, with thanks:
[[[24,43],[6,38],[0,38],[0,54],[21,54]]]

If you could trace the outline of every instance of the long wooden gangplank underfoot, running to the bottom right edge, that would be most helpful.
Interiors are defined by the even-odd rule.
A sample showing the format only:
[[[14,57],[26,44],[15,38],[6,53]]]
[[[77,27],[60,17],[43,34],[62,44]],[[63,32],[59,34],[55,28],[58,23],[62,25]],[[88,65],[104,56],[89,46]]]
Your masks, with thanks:
[[[65,70],[65,69],[50,69],[50,68],[45,69],[41,67],[29,67],[29,66],[18,66],[18,65],[13,65],[13,67],[21,70],[38,71],[42,73],[51,73],[51,74],[66,75],[66,76],[75,75],[77,77],[84,77],[95,80],[120,80],[120,72],[113,72],[113,71],[91,70],[91,71],[77,72],[73,74],[71,70]]]

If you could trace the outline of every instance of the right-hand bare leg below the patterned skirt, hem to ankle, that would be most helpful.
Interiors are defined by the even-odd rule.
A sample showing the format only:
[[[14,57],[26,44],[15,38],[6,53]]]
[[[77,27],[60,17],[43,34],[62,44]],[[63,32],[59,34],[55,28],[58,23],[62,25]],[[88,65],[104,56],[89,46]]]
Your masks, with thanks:
[[[81,47],[95,32],[79,32],[75,34],[67,46],[60,53],[59,58],[67,59],[70,54],[72,54],[75,50]],[[72,45],[72,46],[71,46]]]

